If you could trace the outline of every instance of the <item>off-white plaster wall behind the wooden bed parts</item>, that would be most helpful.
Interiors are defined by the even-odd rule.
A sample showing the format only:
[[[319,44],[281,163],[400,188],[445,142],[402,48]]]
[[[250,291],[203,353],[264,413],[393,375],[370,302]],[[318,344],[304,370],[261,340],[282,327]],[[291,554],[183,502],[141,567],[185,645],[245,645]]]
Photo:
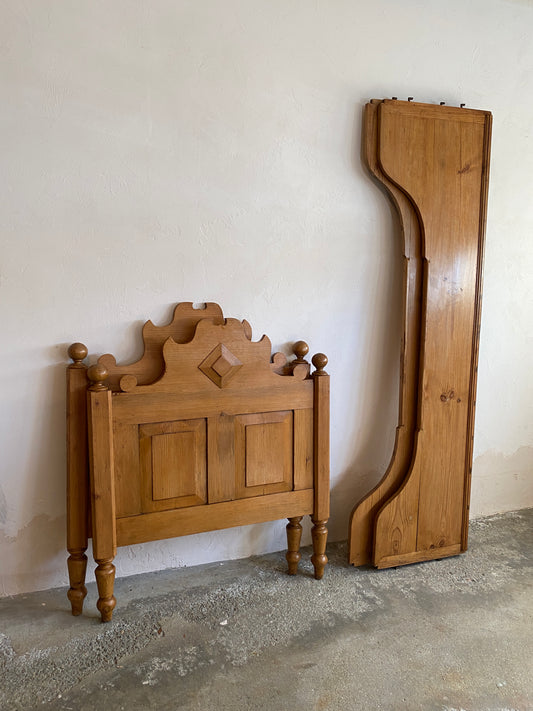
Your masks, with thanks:
[[[533,505],[531,0],[0,1],[0,594],[66,583],[64,364],[217,301],[330,358],[331,537],[389,461],[400,252],[372,98],[494,113],[472,514]],[[120,549],[119,575],[285,545]]]

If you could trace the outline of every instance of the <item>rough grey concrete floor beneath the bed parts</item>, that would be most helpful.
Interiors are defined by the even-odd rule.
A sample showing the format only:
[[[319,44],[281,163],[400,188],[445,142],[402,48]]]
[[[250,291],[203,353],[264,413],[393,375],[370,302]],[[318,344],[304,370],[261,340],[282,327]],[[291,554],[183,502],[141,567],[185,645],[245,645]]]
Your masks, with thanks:
[[[533,509],[472,523],[456,558],[386,571],[328,547],[0,600],[1,709],[533,709]]]

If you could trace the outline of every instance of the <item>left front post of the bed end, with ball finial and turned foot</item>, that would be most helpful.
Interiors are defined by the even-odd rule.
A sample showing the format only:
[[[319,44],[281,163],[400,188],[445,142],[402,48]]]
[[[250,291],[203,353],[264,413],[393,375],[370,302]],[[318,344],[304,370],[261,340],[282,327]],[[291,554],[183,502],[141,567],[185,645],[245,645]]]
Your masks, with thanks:
[[[108,372],[101,364],[87,371],[91,386],[87,392],[89,461],[93,524],[93,553],[98,586],[96,606],[102,622],[110,622],[117,601],[113,595],[117,552],[115,486],[113,470],[113,422],[111,391],[104,381]]]

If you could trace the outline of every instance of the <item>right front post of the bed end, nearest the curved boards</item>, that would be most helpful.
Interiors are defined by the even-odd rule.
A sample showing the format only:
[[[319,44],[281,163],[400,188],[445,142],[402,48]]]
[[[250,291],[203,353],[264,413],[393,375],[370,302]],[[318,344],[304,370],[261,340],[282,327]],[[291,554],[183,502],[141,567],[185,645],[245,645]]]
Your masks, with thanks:
[[[314,380],[314,481],[315,502],[311,520],[313,528],[313,555],[311,563],[315,569],[315,578],[320,580],[328,562],[326,556],[326,541],[329,518],[329,375],[324,368],[328,359],[323,353],[317,353],[312,358],[316,370]]]

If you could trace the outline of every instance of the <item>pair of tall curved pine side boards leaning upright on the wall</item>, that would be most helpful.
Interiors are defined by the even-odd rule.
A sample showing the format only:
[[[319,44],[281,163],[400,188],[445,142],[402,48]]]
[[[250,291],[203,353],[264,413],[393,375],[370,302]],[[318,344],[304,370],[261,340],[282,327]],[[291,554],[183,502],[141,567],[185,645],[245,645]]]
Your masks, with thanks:
[[[363,154],[400,217],[404,334],[391,463],[353,509],[349,560],[466,550],[492,117],[373,100]]]

